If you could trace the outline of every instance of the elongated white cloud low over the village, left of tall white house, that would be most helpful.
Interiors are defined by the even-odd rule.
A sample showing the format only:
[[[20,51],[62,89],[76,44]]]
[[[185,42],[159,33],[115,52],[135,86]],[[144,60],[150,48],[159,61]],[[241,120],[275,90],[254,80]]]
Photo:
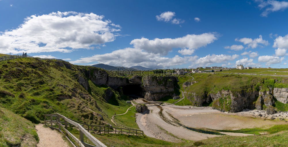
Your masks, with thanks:
[[[224,61],[231,61],[231,60],[234,60],[236,58],[238,58],[239,55],[207,55],[205,57],[202,57],[202,58],[199,58],[196,60],[196,64],[197,65],[210,65],[212,63],[221,63],[221,62],[224,62]]]

